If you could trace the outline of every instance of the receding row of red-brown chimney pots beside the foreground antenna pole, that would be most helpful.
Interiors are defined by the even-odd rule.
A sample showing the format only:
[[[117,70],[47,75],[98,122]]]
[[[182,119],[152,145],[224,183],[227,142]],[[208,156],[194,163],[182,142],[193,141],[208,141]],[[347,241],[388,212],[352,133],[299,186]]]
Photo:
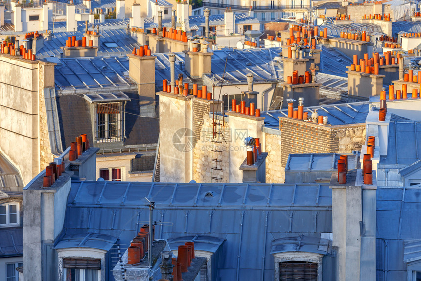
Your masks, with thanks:
[[[149,235],[151,234],[149,224],[140,228],[140,232],[130,242],[127,250],[127,264],[138,264],[145,258],[149,249]],[[152,227],[152,241],[155,240],[155,226]]]

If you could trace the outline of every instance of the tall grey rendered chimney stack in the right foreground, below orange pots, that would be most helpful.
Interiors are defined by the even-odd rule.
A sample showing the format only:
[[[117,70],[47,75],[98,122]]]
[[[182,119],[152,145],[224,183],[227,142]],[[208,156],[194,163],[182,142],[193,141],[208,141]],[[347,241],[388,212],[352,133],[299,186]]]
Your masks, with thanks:
[[[346,173],[346,183],[339,184],[338,172],[332,174],[333,246],[337,247],[335,280],[376,279],[376,190],[364,184],[360,169]]]

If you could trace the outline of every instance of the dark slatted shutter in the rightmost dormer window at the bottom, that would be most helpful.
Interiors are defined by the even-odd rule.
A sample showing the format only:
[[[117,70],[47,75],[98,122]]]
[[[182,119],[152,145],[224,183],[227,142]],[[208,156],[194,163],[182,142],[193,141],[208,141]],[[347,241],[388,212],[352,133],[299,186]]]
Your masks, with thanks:
[[[287,261],[279,263],[279,281],[317,281],[317,263]]]

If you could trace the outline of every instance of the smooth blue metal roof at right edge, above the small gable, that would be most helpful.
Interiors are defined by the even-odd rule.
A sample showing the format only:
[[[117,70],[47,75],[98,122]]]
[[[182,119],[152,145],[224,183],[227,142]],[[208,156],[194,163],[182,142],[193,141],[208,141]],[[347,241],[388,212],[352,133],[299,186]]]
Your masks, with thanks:
[[[387,156],[381,157],[380,164],[412,164],[421,159],[420,145],[421,122],[391,121]]]

